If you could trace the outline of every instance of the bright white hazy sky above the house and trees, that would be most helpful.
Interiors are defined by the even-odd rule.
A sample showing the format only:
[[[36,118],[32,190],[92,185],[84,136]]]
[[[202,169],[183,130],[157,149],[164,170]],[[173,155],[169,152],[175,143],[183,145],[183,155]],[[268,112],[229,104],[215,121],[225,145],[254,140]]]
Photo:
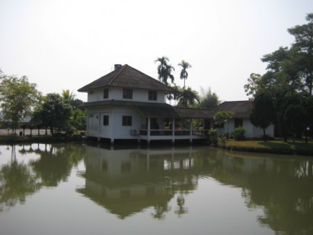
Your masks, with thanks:
[[[167,56],[186,86],[221,101],[246,100],[251,73],[264,74],[260,58],[306,24],[312,0],[0,0],[0,69],[26,75],[43,95],[77,90],[130,65],[157,79],[154,60]]]

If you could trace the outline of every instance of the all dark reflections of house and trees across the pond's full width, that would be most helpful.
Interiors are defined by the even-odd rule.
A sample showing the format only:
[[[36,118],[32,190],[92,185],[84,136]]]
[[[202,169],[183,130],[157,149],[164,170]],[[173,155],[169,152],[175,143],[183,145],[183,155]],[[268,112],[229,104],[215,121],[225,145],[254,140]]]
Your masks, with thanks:
[[[106,149],[35,144],[0,145],[0,151],[0,212],[26,203],[42,187],[58,187],[85,161],[86,170],[76,169],[79,176],[74,175],[85,178],[77,192],[123,220],[149,211],[152,220],[166,220],[170,214],[184,220],[188,214],[195,221],[200,211],[189,200],[195,193],[205,195],[200,183],[210,180],[239,189],[244,209],[262,209],[259,225],[276,234],[313,234],[312,158],[209,147]],[[71,198],[64,195],[56,200]],[[221,210],[237,213],[225,207]]]

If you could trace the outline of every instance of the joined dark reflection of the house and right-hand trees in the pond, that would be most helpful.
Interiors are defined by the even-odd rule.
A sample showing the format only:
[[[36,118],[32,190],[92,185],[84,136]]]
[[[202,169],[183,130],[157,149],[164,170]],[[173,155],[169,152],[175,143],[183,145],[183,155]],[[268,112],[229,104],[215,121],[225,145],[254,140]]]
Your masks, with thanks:
[[[211,177],[241,188],[260,224],[283,234],[313,233],[312,159],[225,152],[207,147],[104,149],[86,146],[86,186],[78,191],[126,218],[151,206],[153,218],[188,213],[186,195]],[[176,201],[172,208],[170,200]],[[193,213],[196,213],[193,211]]]

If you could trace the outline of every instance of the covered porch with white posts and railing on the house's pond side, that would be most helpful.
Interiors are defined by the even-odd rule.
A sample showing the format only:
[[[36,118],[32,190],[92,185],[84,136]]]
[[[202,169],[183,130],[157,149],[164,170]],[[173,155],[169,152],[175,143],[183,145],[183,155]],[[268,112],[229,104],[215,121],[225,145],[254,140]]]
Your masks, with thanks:
[[[171,140],[172,143],[189,140],[192,143],[205,139],[213,120],[209,109],[170,107],[155,110],[142,106],[138,110],[146,118],[138,131],[138,140],[145,140],[148,144],[152,140]]]

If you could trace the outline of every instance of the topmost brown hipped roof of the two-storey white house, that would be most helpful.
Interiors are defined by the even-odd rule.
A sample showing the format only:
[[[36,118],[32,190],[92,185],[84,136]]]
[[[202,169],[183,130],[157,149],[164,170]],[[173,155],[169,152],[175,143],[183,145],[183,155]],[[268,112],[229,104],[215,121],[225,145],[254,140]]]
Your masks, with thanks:
[[[116,70],[113,70],[109,74],[102,76],[101,78],[83,86],[78,91],[88,92],[88,90],[93,90],[95,88],[103,88],[107,86],[116,86],[122,88],[137,88],[146,90],[161,90],[165,92],[174,92],[175,90],[166,86],[165,84],[157,81],[134,69],[129,65],[123,65]]]

